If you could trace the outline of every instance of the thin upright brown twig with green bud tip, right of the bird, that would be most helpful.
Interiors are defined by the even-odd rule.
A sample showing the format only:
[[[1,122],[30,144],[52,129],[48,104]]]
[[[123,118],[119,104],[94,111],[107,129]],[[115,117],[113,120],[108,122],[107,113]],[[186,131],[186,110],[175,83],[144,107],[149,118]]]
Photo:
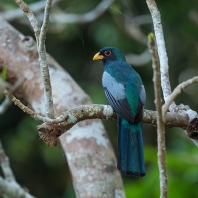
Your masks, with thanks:
[[[155,48],[154,35],[149,34],[149,50],[152,56],[153,82],[155,90],[155,106],[157,110],[157,143],[158,143],[158,166],[160,174],[160,198],[168,197],[168,179],[166,174],[166,145],[165,145],[165,126],[162,116],[162,99],[160,89],[160,64]]]

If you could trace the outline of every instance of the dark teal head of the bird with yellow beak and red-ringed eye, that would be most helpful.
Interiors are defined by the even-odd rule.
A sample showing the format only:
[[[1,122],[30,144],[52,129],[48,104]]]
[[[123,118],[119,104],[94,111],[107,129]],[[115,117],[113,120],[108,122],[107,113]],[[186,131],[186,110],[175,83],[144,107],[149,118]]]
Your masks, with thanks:
[[[109,61],[125,61],[124,54],[115,47],[104,47],[95,54],[93,60],[102,60],[103,62]]]

